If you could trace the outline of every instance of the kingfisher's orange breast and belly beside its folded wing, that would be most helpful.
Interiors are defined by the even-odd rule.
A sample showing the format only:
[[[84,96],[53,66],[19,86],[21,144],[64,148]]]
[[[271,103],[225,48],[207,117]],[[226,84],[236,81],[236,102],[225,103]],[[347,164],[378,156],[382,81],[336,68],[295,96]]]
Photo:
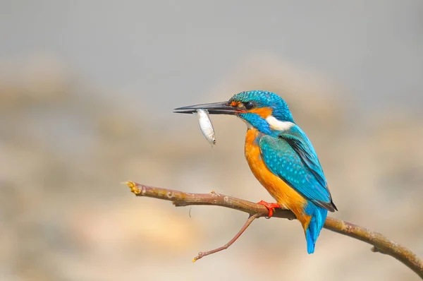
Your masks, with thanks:
[[[259,132],[255,128],[249,129],[245,136],[245,158],[252,174],[283,208],[292,210],[297,217],[303,217],[303,206],[307,201],[266,167],[260,153],[258,136]]]

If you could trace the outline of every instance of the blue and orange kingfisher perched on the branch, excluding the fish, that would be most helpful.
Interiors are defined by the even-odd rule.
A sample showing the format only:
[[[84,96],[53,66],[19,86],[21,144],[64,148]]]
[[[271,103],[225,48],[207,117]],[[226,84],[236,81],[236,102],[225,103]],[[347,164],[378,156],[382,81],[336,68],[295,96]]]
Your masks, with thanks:
[[[269,210],[269,217],[274,208],[291,210],[304,229],[307,252],[314,253],[328,211],[338,209],[317,153],[285,100],[274,92],[250,90],[226,102],[179,107],[175,112],[194,113],[196,109],[245,121],[245,158],[252,174],[277,202],[259,204]]]

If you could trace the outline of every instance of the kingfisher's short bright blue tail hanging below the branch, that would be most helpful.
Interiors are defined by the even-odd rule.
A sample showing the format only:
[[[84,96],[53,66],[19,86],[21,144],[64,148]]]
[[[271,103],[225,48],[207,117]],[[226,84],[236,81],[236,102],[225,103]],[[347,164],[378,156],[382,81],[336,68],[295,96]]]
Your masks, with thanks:
[[[307,228],[305,228],[305,239],[307,240],[307,252],[314,253],[314,246],[316,245],[317,237],[319,237],[320,230],[326,221],[328,210],[321,208],[313,203],[307,203],[305,208],[306,215],[311,216]],[[304,225],[305,226],[305,225]]]

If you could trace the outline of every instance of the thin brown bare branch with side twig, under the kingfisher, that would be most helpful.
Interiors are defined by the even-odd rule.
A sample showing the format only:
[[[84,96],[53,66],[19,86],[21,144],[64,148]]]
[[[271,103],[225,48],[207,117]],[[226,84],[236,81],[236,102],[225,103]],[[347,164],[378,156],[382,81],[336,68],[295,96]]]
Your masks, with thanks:
[[[242,212],[250,214],[249,219],[245,222],[243,228],[236,234],[231,241],[225,246],[218,249],[199,253],[193,261],[207,256],[217,251],[227,249],[241,234],[247,229],[253,220],[259,217],[266,217],[269,214],[269,210],[263,205],[245,201],[243,199],[226,196],[223,194],[212,191],[211,193],[185,193],[182,191],[174,191],[171,189],[161,189],[158,187],[145,186],[137,184],[133,181],[125,182],[130,187],[130,191],[135,193],[136,196],[147,196],[167,201],[172,201],[176,207],[188,206],[188,205],[218,205],[221,207],[231,208],[234,210],[240,210]],[[295,215],[290,210],[284,210],[276,208],[273,217],[285,218],[288,220],[296,219]],[[337,220],[333,217],[327,217],[324,224],[324,228],[329,229],[333,232],[353,237],[360,241],[364,241],[368,244],[373,245],[372,251],[384,253],[388,256],[396,258],[401,263],[407,265],[408,268],[413,270],[419,277],[423,279],[423,261],[415,253],[412,253],[405,246],[391,241],[384,237],[382,234],[372,232],[364,227],[353,225],[350,222],[344,222],[343,220]]]

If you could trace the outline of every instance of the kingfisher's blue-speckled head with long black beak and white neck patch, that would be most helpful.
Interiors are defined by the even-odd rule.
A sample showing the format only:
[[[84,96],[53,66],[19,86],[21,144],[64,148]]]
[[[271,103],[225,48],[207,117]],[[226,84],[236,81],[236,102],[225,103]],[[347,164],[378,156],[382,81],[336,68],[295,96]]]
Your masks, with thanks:
[[[196,104],[175,109],[176,113],[194,113],[196,109],[207,109],[209,114],[239,116],[249,128],[272,134],[294,126],[288,104],[273,92],[252,90],[239,92],[227,102]]]

